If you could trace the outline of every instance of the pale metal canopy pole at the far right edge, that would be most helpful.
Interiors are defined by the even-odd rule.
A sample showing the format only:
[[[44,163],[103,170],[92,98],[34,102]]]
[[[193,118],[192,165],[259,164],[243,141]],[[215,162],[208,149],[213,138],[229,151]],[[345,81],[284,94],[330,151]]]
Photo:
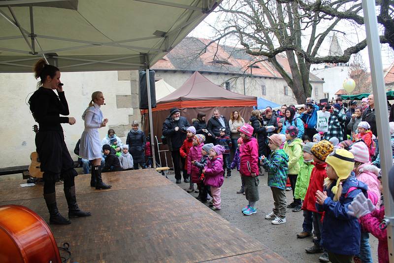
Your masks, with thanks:
[[[394,262],[394,203],[389,189],[389,171],[393,166],[390,142],[389,119],[387,115],[386,87],[383,78],[383,66],[379,42],[378,22],[375,13],[375,1],[362,0],[366,41],[371,67],[372,90],[375,100],[376,124],[379,136],[380,166],[382,168],[383,195],[385,202],[385,221],[387,229],[389,260]]]

